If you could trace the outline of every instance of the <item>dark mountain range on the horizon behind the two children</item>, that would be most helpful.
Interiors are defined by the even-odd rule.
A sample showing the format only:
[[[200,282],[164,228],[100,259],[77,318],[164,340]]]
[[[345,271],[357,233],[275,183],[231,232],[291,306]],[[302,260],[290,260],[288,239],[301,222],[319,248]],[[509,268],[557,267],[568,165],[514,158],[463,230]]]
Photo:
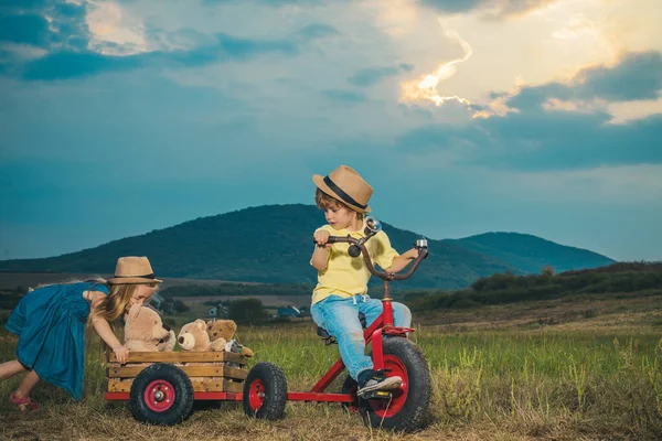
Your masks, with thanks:
[[[323,215],[313,205],[249,207],[58,257],[0,260],[0,271],[107,273],[114,270],[119,256],[148,256],[157,276],[162,277],[314,283],[317,273],[309,265],[313,250],[312,232],[323,223]],[[419,237],[385,223],[383,228],[394,248],[401,251],[409,249]],[[491,240],[482,236],[459,240],[428,239],[430,256],[410,280],[398,282],[398,286],[463,288],[480,277],[505,271],[515,275],[538,272],[536,262],[553,265],[563,259],[568,262],[564,268],[598,266],[594,265],[598,260],[592,256],[599,255],[534,236],[523,239],[521,236],[524,235],[496,234],[499,239]],[[512,249],[509,240],[513,243]],[[540,250],[536,244],[542,244]],[[548,248],[546,244],[555,247]],[[548,258],[545,257],[547,250],[551,252]],[[591,258],[584,261],[583,256],[588,256],[587,252]],[[600,257],[605,262],[612,262]]]

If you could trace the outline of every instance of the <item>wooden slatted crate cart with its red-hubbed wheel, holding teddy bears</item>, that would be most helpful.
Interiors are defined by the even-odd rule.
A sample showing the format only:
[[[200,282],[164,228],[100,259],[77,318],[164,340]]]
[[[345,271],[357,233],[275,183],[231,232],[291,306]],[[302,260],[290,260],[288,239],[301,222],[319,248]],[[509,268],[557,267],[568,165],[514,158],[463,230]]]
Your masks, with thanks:
[[[129,401],[138,421],[174,424],[194,400],[241,401],[247,358],[228,352],[132,352],[106,356],[107,400]]]

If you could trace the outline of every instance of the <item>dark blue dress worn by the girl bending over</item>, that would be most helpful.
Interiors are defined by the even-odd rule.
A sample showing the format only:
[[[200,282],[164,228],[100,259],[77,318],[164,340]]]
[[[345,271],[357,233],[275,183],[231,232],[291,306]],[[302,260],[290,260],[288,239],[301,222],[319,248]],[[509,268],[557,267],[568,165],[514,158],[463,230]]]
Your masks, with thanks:
[[[89,302],[83,292],[109,293],[105,284],[53,284],[25,294],[4,327],[19,336],[17,358],[39,376],[79,400],[85,368],[85,327]]]

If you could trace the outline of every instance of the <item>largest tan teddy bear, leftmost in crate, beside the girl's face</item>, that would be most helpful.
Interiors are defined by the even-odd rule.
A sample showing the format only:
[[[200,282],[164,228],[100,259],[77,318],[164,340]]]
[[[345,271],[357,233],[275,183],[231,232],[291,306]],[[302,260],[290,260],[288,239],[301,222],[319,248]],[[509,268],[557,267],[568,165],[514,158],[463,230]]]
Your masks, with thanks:
[[[151,308],[135,304],[125,315],[125,344],[132,352],[167,352],[175,344],[174,332]]]

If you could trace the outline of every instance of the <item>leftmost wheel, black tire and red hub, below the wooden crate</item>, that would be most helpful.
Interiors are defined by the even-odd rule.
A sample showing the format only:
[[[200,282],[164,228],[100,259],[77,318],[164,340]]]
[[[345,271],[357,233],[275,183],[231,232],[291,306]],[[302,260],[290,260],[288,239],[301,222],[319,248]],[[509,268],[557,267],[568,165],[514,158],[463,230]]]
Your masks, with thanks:
[[[191,379],[177,366],[157,363],[136,376],[129,392],[134,418],[150,424],[183,421],[193,407]]]

